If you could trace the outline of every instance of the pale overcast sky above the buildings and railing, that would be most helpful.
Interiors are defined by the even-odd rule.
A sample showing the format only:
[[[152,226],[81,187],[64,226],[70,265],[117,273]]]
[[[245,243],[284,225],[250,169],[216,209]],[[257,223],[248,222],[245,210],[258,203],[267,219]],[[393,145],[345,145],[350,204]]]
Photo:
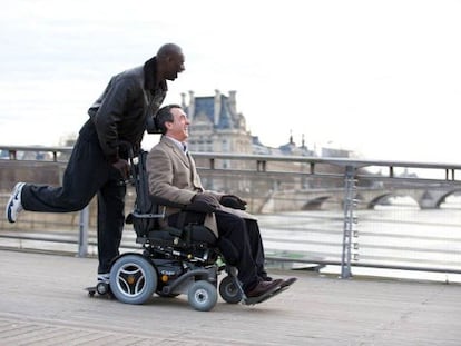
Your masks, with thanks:
[[[266,146],[461,161],[461,0],[0,4],[0,145],[59,145],[111,76],[175,42],[186,71],[165,102],[235,90]]]

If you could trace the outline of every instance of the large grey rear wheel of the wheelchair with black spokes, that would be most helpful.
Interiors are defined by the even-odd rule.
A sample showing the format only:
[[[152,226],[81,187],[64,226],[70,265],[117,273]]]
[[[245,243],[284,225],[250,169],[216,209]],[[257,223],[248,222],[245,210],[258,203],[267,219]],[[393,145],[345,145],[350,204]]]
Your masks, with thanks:
[[[110,269],[110,289],[126,304],[143,304],[157,288],[157,273],[148,259],[140,255],[118,258]]]

